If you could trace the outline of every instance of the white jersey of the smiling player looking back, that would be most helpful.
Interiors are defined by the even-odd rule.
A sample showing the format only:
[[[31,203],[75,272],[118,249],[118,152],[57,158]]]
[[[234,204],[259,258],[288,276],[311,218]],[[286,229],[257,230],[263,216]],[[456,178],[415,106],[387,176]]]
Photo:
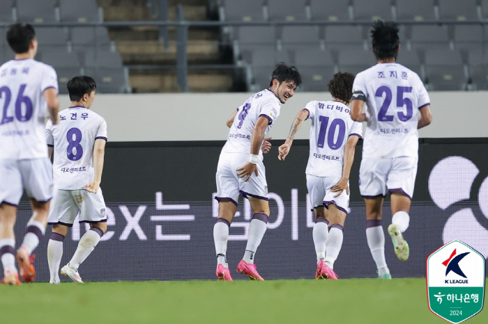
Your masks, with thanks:
[[[227,142],[222,148],[222,152],[250,154],[252,130],[258,118],[264,116],[269,120],[266,135],[280,115],[280,108],[280,99],[275,96],[273,91],[266,89],[254,93],[242,106],[237,108],[236,117],[227,134]],[[261,147],[259,156],[262,159]]]

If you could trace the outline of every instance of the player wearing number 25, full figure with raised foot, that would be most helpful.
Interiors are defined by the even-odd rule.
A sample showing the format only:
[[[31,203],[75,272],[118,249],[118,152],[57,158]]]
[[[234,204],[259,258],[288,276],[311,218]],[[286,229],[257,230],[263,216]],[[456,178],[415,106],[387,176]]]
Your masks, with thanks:
[[[390,191],[393,217],[388,234],[398,259],[406,261],[409,245],[402,232],[409,227],[417,175],[417,129],[432,122],[432,113],[429,95],[418,74],[396,63],[400,49],[397,24],[376,21],[371,33],[378,64],[356,75],[351,117],[367,121],[359,170],[359,190],[366,203],[367,243],[378,277],[391,279],[385,260],[381,207]],[[363,113],[365,103],[367,110]]]

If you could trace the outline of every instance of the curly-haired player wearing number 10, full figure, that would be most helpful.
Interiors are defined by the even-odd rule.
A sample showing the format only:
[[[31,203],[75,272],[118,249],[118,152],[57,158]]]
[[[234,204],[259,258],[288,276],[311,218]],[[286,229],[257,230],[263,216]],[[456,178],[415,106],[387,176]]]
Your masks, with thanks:
[[[278,149],[278,159],[284,161],[303,121],[312,120],[305,173],[316,218],[312,232],[317,252],[315,279],[338,279],[333,268],[349,213],[349,175],[356,144],[363,136],[363,125],[354,122],[349,113],[353,81],[353,74],[334,74],[327,85],[333,100],[309,102],[296,115],[287,140]]]

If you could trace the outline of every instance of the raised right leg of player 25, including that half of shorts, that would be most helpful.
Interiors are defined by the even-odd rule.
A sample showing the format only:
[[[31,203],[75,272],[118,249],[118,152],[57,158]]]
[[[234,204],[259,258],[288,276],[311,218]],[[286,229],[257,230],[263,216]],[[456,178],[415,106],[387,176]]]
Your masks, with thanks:
[[[410,205],[417,175],[417,158],[399,157],[392,161],[387,186],[391,193],[392,224],[388,226],[388,234],[392,238],[395,254],[401,261],[409,259],[409,243],[404,240],[403,232],[409,227]]]

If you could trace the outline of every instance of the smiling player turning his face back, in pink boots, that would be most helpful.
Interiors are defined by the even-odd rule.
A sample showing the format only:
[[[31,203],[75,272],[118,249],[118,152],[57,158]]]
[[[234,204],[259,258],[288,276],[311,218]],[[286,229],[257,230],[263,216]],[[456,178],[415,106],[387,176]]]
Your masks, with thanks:
[[[254,264],[254,254],[266,232],[269,217],[268,185],[261,145],[264,135],[280,115],[281,105],[293,96],[301,83],[296,67],[278,63],[271,75],[270,87],[252,95],[227,120],[230,130],[215,175],[219,216],[213,227],[213,240],[217,252],[215,273],[219,280],[232,280],[225,252],[239,194],[249,200],[253,216],[244,257],[237,270],[251,280],[264,280]]]

